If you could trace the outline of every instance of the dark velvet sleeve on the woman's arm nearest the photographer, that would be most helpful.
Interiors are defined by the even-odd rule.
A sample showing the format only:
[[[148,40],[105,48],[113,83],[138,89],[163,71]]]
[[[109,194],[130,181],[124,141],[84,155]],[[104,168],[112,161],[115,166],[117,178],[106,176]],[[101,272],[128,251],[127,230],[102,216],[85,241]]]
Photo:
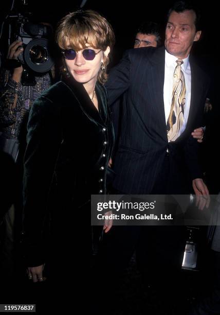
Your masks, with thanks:
[[[44,220],[62,138],[60,117],[57,104],[43,96],[30,110],[24,158],[24,240],[29,267],[45,262]]]

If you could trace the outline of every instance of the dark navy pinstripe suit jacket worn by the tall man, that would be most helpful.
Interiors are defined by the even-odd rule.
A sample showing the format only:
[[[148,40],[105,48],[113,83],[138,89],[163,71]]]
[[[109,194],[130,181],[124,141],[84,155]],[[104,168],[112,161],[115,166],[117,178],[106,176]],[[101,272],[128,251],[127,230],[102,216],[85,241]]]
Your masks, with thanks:
[[[187,127],[175,142],[168,143],[163,102],[164,64],[164,47],[127,50],[106,84],[110,106],[124,94],[114,186],[126,194],[151,193],[167,149],[174,183],[186,174],[190,179],[202,176],[198,143],[191,132],[203,124],[209,82],[190,58],[191,104]]]

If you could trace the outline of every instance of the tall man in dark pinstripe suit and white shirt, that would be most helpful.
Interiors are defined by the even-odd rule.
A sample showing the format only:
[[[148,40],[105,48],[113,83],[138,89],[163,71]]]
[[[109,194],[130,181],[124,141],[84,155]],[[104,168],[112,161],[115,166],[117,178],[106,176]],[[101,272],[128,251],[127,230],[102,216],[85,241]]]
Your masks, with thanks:
[[[122,94],[126,99],[113,168],[117,173],[114,188],[122,194],[188,194],[193,187],[196,195],[209,195],[199,167],[198,143],[191,136],[203,125],[208,90],[207,76],[189,56],[193,42],[201,34],[198,22],[195,8],[184,1],[174,4],[168,15],[165,48],[128,50],[109,75],[109,104]],[[177,60],[181,60],[185,76],[186,102],[176,139],[168,141],[167,121]],[[161,283],[165,273],[173,275],[181,267],[184,244],[178,226],[113,226],[104,239],[105,263],[119,270],[138,248],[153,280],[157,278]]]

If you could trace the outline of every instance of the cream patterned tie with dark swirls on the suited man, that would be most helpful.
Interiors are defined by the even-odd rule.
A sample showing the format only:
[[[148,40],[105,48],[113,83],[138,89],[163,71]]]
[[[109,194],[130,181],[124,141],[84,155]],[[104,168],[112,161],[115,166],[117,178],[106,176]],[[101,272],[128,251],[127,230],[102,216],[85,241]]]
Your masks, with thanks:
[[[173,93],[170,115],[167,121],[168,141],[175,141],[184,120],[184,106],[186,102],[186,84],[181,59],[176,60],[177,66],[173,74]]]

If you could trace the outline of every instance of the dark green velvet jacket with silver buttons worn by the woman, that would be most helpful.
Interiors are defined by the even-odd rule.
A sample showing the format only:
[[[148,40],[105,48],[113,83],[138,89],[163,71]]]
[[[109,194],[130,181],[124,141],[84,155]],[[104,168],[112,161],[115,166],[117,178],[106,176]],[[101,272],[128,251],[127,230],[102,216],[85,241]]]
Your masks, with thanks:
[[[45,262],[48,221],[53,234],[62,238],[67,233],[70,240],[71,229],[82,224],[85,216],[90,220],[90,195],[105,193],[114,132],[106,90],[99,83],[96,95],[99,111],[81,83],[65,78],[43,93],[30,110],[24,158],[29,267]]]

